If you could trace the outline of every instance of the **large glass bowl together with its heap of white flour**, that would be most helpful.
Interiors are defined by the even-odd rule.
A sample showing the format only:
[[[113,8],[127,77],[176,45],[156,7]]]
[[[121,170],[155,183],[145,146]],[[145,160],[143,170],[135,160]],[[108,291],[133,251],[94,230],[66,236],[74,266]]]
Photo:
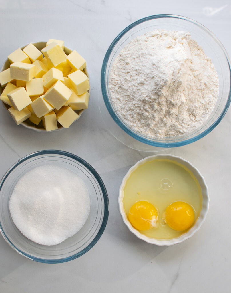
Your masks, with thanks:
[[[128,135],[151,146],[181,146],[224,117],[230,61],[203,25],[182,16],[150,16],[112,42],[101,89],[111,117]]]

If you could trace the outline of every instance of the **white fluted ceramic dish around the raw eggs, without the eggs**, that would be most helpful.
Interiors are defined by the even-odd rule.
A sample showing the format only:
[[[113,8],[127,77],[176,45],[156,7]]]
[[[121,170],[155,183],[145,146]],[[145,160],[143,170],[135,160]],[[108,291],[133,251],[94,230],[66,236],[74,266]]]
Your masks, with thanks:
[[[199,216],[195,220],[194,224],[191,226],[191,228],[186,230],[185,233],[181,234],[179,237],[175,237],[175,238],[171,238],[171,239],[155,239],[152,237],[148,237],[148,236],[142,234],[140,231],[136,230],[129,222],[127,215],[126,215],[126,212],[124,210],[124,205],[123,205],[124,186],[126,184],[126,181],[131,176],[131,174],[136,170],[136,168],[138,166],[142,166],[146,162],[153,161],[153,160],[163,160],[163,159],[179,163],[180,165],[183,166],[183,168],[186,167],[186,169],[188,169],[189,172],[192,172],[192,174],[194,175],[195,179],[197,180],[197,182],[201,188],[201,194],[202,194],[201,210],[200,210]],[[142,178],[140,178],[140,180],[142,180]],[[166,183],[171,182],[170,178],[164,178],[164,180]],[[160,184],[161,184],[161,182],[160,182]],[[177,188],[179,188],[179,190],[181,189],[181,187],[179,187],[179,186]],[[167,189],[164,189],[164,190],[167,190]],[[160,193],[160,194],[162,195],[162,193]],[[141,200],[145,200],[145,199],[141,199]],[[128,172],[124,176],[122,183],[120,185],[120,188],[119,188],[118,202],[119,202],[120,214],[122,215],[123,222],[126,224],[128,229],[133,234],[135,234],[136,237],[138,237],[139,239],[146,241],[147,243],[162,246],[162,245],[173,245],[173,244],[181,243],[182,241],[192,237],[200,229],[200,227],[203,224],[203,222],[205,221],[206,215],[208,213],[209,195],[208,195],[208,187],[205,183],[203,176],[201,175],[199,170],[196,167],[194,167],[189,161],[186,161],[178,156],[173,156],[170,154],[158,154],[158,155],[154,155],[154,156],[148,156],[148,157],[138,161],[134,166],[132,166],[128,170]],[[171,202],[169,202],[169,204],[170,203]]]

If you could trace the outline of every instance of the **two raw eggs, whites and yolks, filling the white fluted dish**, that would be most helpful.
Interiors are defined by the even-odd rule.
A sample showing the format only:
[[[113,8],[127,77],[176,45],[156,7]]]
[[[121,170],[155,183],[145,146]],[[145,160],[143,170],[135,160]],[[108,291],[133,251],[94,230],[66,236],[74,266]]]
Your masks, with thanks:
[[[201,187],[194,174],[168,159],[138,165],[122,193],[123,208],[131,225],[155,239],[172,239],[186,233],[202,208]]]

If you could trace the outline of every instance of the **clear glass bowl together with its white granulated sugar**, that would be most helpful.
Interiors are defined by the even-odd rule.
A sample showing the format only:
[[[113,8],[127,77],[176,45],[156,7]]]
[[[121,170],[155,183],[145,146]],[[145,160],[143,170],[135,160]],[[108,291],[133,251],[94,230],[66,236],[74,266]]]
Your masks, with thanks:
[[[17,161],[0,183],[0,232],[21,255],[62,263],[92,248],[109,202],[99,174],[80,157],[44,150]]]

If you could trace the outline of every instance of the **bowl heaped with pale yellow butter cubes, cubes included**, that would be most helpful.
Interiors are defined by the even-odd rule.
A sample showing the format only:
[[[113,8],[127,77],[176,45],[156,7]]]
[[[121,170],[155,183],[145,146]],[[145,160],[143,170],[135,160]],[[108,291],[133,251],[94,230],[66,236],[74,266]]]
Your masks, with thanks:
[[[36,131],[69,128],[88,108],[85,59],[64,41],[30,43],[8,55],[0,99],[17,125]]]

